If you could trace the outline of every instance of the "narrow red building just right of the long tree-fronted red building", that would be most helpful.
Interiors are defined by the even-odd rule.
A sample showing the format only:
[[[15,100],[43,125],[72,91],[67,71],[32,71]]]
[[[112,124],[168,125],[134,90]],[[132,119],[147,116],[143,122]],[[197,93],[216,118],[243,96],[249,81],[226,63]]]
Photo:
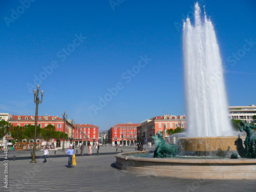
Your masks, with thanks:
[[[83,143],[85,146],[89,144],[95,145],[98,143],[99,127],[92,124],[75,124],[74,142],[80,146]]]

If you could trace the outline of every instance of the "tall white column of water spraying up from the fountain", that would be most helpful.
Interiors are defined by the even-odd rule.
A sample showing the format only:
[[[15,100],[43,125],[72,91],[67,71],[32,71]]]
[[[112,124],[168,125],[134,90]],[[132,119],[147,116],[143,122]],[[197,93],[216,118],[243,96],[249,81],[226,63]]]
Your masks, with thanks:
[[[183,24],[187,130],[193,137],[231,135],[222,62],[214,26],[195,5],[195,27]]]

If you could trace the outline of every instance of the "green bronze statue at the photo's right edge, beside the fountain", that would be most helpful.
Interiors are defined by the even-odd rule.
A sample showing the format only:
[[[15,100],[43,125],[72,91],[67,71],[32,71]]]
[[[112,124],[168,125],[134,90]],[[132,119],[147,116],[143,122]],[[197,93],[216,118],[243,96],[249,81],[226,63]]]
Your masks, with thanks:
[[[256,136],[254,132],[251,129],[255,129],[255,120],[253,121],[253,125],[245,123],[244,121],[241,121],[239,126],[239,131],[246,132],[246,139],[243,142],[240,136],[238,139],[234,142],[235,145],[237,145],[237,151],[240,157],[242,158],[256,158]]]

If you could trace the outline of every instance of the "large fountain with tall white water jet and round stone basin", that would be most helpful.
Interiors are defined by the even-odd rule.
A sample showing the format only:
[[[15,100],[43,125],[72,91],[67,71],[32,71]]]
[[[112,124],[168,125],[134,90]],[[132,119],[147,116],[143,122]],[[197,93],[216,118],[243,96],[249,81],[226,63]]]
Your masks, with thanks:
[[[202,158],[204,155],[227,156],[236,152],[241,139],[232,136],[228,120],[221,57],[214,27],[195,5],[195,27],[187,18],[183,24],[183,59],[187,130],[192,137],[180,138],[183,151],[198,155],[187,158],[147,158],[130,152],[116,155],[116,167],[148,175],[194,179],[256,179],[255,159]],[[160,134],[158,133],[160,138]],[[235,141],[237,146],[234,145]],[[256,141],[255,141],[256,142]],[[242,147],[242,146],[240,146]],[[255,147],[254,147],[255,148]],[[172,146],[158,149],[154,157],[175,156]],[[241,154],[246,148],[241,148]],[[232,154],[233,158],[237,156]]]

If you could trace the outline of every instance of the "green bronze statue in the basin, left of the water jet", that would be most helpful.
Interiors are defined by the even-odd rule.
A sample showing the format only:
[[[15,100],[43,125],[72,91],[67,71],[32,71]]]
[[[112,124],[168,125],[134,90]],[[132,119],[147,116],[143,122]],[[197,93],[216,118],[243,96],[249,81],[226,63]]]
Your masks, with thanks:
[[[156,150],[154,151],[154,157],[165,158],[165,157],[171,157],[172,154],[175,157],[176,153],[178,151],[180,151],[179,146],[165,143],[165,141],[163,139],[163,134],[161,133],[161,131],[158,131],[157,134],[151,138],[155,141],[155,144],[156,144]]]

